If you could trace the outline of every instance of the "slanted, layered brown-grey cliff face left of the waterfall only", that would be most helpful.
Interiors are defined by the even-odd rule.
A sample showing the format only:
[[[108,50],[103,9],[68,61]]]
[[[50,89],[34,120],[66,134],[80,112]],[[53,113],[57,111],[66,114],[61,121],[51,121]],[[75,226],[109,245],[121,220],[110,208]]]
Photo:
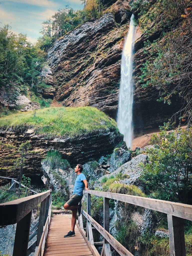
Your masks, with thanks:
[[[48,52],[56,99],[64,105],[95,106],[116,117],[122,39],[129,27],[124,23],[131,15],[127,9],[127,2],[115,3],[101,18],[82,24]]]

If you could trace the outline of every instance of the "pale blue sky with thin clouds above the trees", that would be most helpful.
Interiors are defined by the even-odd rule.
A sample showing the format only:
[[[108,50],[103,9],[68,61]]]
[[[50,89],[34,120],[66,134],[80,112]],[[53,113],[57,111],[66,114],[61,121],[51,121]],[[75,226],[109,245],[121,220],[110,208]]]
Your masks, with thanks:
[[[42,22],[51,17],[68,1],[63,0],[0,0],[0,27],[9,24],[16,34],[27,34],[32,43],[42,36],[39,31]],[[80,0],[70,0],[69,6],[74,10],[82,9]]]

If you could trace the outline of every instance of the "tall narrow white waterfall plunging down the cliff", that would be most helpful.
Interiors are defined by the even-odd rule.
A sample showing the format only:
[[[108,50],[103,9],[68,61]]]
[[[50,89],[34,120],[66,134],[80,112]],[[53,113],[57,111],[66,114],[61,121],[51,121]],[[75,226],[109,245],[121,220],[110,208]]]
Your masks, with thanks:
[[[129,31],[123,46],[121,58],[121,83],[119,92],[118,127],[124,135],[127,147],[131,147],[133,137],[132,109],[133,109],[133,84],[132,84],[132,58],[137,28],[133,22],[132,14]]]

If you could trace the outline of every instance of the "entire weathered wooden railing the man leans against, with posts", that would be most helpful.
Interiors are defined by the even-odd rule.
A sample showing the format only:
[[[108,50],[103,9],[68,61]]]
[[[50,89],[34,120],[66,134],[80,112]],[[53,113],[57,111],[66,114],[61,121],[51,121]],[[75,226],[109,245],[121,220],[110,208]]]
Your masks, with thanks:
[[[78,219],[78,226],[84,238],[88,242],[93,255],[97,256],[98,251],[95,246],[102,246],[101,256],[111,256],[109,244],[121,256],[133,256],[125,247],[122,246],[110,233],[109,233],[109,199],[123,201],[129,204],[142,206],[159,212],[167,214],[168,229],[169,229],[169,246],[170,256],[186,256],[185,250],[185,236],[184,236],[184,223],[183,219],[192,220],[192,206],[169,202],[164,200],[157,200],[152,198],[145,198],[139,196],[131,196],[124,194],[108,193],[95,190],[85,190],[87,193],[87,212],[82,211],[82,215],[87,219],[86,231],[83,228],[82,215]],[[103,197],[103,227],[99,225],[91,215],[91,195]],[[94,242],[92,234],[92,226],[99,231],[103,236],[103,242]]]

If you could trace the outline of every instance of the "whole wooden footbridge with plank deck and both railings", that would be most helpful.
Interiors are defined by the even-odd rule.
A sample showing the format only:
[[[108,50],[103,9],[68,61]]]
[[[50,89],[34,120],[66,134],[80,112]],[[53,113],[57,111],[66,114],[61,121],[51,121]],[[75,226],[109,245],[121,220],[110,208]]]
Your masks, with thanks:
[[[63,238],[63,234],[66,234],[71,227],[67,216],[54,216],[50,221],[51,190],[0,204],[0,225],[17,223],[13,256],[28,256],[31,252],[35,252],[35,256],[111,256],[110,245],[121,256],[133,256],[109,233],[109,199],[167,214],[170,256],[186,256],[183,220],[192,220],[191,205],[94,190],[85,190],[85,193],[87,212],[82,211],[82,215],[87,222],[83,224],[81,215],[76,224],[76,236],[69,238]],[[103,227],[90,216],[91,195],[103,197]],[[40,215],[30,230],[32,210],[39,204],[41,204]],[[93,228],[103,236],[102,242],[93,241]],[[36,235],[36,241],[28,246],[28,242]],[[98,247],[102,247],[101,254],[97,251]]]

